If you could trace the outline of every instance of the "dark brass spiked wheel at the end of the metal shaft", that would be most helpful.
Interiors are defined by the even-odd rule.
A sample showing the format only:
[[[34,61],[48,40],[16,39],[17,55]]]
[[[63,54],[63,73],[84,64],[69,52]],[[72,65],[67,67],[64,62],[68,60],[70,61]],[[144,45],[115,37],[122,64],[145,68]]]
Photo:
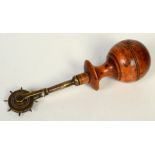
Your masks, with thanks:
[[[27,94],[29,93],[27,90],[23,90],[22,88],[20,90],[17,90],[15,92],[11,92],[11,95],[9,96],[8,99],[8,104],[9,104],[9,111],[14,111],[16,113],[20,114],[27,112],[27,111],[31,111],[31,108],[33,106],[33,97],[29,97],[27,99],[24,99],[22,102],[19,102],[18,100],[20,100],[21,96],[23,94]]]

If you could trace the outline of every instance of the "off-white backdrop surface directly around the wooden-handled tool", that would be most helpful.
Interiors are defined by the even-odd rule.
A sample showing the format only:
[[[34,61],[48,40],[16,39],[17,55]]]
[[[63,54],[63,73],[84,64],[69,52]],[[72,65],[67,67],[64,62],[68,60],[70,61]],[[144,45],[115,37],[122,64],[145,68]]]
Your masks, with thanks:
[[[110,48],[123,39],[144,43],[152,58],[148,74],[138,82],[105,78],[100,90],[89,86],[55,92],[21,117],[8,110],[9,91],[49,87],[83,72],[89,59],[101,65]],[[1,120],[155,120],[155,34],[1,34]]]

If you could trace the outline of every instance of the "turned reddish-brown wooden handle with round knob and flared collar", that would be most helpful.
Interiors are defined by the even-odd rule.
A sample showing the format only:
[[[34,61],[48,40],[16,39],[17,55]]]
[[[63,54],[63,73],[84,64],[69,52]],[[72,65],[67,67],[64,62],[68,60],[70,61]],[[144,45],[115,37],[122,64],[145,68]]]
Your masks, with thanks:
[[[106,76],[123,82],[136,81],[147,73],[150,62],[149,52],[142,43],[123,40],[111,48],[103,65],[96,67],[86,60],[84,68],[88,77],[83,74],[79,81],[89,83],[95,90],[99,89],[99,81]]]

